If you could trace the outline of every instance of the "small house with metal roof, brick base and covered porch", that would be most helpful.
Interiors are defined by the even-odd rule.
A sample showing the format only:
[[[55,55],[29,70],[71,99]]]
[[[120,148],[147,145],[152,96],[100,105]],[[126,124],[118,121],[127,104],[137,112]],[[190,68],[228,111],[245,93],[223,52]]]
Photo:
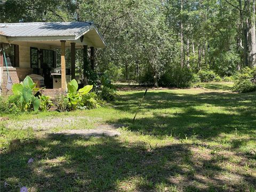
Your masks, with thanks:
[[[84,50],[84,69],[87,69],[89,61],[94,66],[94,48],[105,46],[106,42],[92,22],[0,23],[0,95],[12,94],[6,89],[7,67],[3,52],[13,83],[23,81],[29,74],[38,75],[43,77],[37,84],[41,82],[46,87],[44,94],[54,97],[66,91],[69,71],[71,79],[75,78],[75,49]],[[55,69],[57,48],[61,49],[59,70]],[[66,69],[67,48],[70,48],[70,70]]]

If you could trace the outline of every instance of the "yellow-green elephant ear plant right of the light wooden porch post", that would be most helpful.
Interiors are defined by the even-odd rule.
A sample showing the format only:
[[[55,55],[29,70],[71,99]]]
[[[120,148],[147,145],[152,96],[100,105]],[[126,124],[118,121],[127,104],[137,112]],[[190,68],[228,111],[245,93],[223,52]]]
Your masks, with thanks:
[[[92,90],[93,85],[86,85],[83,88],[78,89],[78,84],[75,79],[67,84],[68,94],[67,97],[69,99],[68,107],[69,110],[76,110],[77,107],[83,107],[84,103],[82,101],[82,96],[84,94],[89,93]]]

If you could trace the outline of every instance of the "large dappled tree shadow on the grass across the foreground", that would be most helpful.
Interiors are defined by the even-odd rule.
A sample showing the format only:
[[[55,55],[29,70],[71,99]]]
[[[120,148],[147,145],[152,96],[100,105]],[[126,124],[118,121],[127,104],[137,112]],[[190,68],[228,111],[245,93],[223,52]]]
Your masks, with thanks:
[[[229,182],[219,176],[225,158],[217,163],[192,149],[187,143],[149,149],[145,142],[50,134],[2,154],[1,191],[17,191],[18,183],[34,191],[233,191],[256,184],[238,171]],[[30,157],[35,161],[28,165]],[[11,186],[4,188],[4,181]]]

